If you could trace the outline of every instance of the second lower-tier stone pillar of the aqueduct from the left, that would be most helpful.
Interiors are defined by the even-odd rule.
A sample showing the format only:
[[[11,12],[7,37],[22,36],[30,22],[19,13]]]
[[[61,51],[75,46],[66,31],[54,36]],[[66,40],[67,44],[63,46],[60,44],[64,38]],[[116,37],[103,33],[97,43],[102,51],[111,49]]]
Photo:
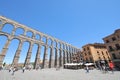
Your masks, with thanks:
[[[14,66],[18,66],[18,60],[20,58],[20,52],[21,52],[21,49],[22,49],[22,45],[23,45],[23,41],[21,41],[19,43],[18,49],[15,53],[15,56],[14,56],[14,59],[13,59],[13,62],[12,62],[12,65],[14,65]]]

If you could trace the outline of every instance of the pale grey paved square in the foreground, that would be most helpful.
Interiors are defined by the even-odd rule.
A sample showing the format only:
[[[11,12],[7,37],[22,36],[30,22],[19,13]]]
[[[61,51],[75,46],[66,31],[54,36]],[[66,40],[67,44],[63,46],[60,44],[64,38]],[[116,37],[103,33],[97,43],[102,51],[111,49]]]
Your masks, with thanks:
[[[70,69],[42,69],[42,70],[22,70],[15,72],[14,75],[8,70],[0,71],[0,80],[120,80],[120,72],[115,71],[102,73],[99,70],[90,70],[86,73],[85,70],[70,70]]]

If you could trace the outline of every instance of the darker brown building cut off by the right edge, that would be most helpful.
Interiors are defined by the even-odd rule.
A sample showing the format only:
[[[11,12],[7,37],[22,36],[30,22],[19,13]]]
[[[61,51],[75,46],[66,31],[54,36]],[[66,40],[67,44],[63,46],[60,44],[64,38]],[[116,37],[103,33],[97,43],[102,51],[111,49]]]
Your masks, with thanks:
[[[120,29],[115,30],[113,34],[106,36],[103,40],[112,61],[120,62]]]

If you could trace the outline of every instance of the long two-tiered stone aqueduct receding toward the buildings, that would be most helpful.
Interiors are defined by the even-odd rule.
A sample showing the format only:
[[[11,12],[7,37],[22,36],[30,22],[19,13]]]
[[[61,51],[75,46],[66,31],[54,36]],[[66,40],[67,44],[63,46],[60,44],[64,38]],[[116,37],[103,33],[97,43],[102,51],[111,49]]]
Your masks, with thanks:
[[[18,32],[19,30],[20,32]],[[19,34],[16,35],[16,33]],[[28,33],[31,35],[27,35]],[[62,67],[65,63],[71,63],[72,55],[79,51],[78,48],[72,46],[71,44],[63,42],[37,30],[31,29],[3,16],[0,16],[0,36],[7,38],[0,52],[0,66],[2,66],[9,49],[9,45],[14,39],[17,39],[19,42],[15,54],[13,54],[14,57],[11,63],[14,66],[19,64],[18,62],[19,58],[21,57],[20,54],[24,42],[29,43],[29,49],[26,53],[24,66],[30,64],[33,45],[37,45],[37,51],[34,55],[34,68],[40,64],[40,56],[43,57],[41,60],[42,68],[52,68],[56,66]],[[44,51],[41,51],[41,47],[44,47]],[[41,55],[42,53],[43,55]]]

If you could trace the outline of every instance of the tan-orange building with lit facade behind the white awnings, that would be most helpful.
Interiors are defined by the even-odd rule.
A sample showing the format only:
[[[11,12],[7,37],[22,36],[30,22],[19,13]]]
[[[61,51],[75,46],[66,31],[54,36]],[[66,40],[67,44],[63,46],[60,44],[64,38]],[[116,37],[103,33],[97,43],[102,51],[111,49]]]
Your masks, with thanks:
[[[82,47],[82,55],[84,62],[96,63],[97,61],[110,60],[110,55],[106,46],[101,43],[87,44]]]

